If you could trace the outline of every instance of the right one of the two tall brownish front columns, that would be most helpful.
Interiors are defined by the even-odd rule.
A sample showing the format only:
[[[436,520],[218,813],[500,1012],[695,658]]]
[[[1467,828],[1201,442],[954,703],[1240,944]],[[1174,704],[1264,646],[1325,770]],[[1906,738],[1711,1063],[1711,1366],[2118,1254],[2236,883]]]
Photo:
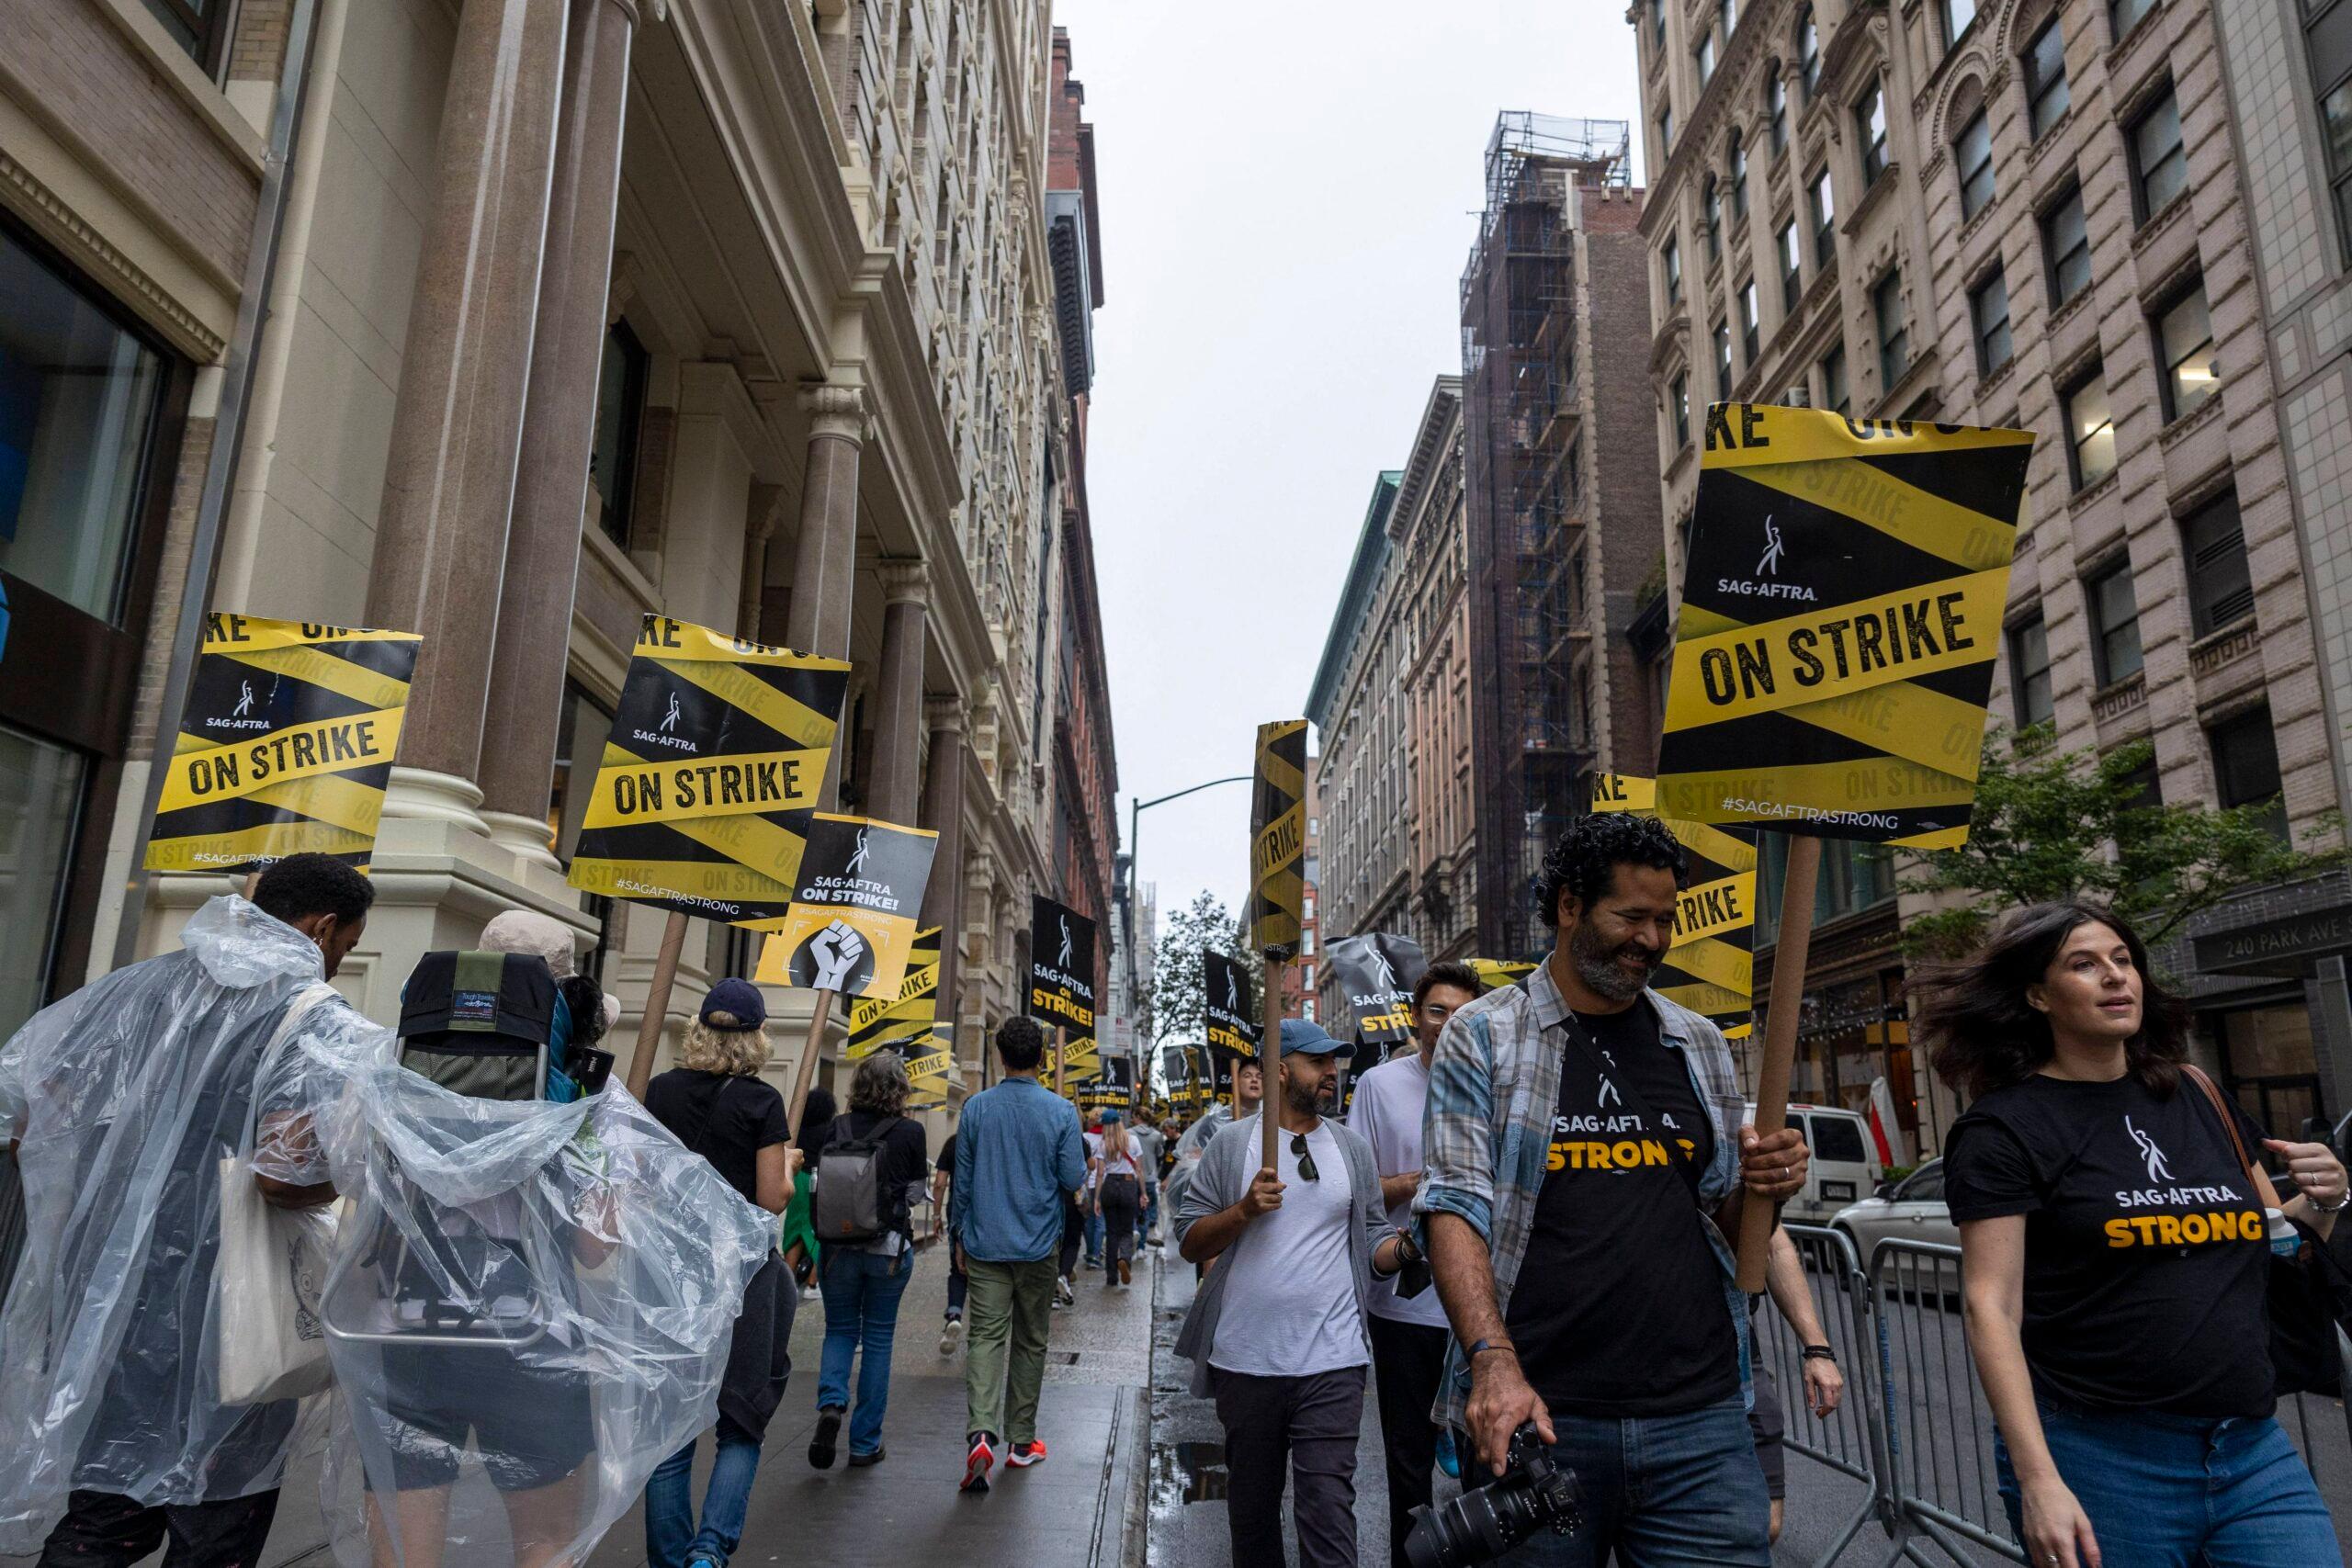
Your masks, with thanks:
[[[621,195],[621,120],[637,0],[572,0],[564,96],[548,197],[546,268],[515,522],[499,590],[499,654],[482,733],[482,820],[520,858],[560,870],[548,853],[548,780],[572,651],[581,510],[595,447],[597,371],[612,284],[612,226]]]

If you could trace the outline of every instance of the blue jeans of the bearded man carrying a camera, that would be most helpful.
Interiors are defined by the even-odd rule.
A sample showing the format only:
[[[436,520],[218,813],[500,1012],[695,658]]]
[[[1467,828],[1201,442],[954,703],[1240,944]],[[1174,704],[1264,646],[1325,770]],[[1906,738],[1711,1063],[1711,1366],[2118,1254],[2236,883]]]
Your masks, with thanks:
[[[1686,1415],[1552,1415],[1552,1462],[1585,1490],[1585,1528],[1536,1530],[1498,1556],[1512,1568],[1769,1568],[1771,1497],[1748,1410],[1733,1394]],[[1463,1483],[1489,1479],[1470,1474]],[[2119,1559],[2110,1559],[2119,1561]]]

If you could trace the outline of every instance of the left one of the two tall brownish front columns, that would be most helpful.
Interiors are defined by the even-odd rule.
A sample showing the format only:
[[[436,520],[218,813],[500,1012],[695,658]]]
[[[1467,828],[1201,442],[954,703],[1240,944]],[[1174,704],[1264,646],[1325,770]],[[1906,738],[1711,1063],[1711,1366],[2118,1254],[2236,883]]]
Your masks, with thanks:
[[[369,625],[423,632],[390,813],[473,830],[562,52],[564,0],[459,14],[367,585]]]

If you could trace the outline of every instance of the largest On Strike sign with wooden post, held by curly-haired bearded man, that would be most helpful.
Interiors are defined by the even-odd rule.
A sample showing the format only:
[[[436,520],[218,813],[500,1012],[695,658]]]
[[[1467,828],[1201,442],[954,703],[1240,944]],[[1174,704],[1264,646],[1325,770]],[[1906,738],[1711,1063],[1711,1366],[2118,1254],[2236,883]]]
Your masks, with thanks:
[[[1788,835],[1757,1131],[1788,1124],[1820,839],[1969,832],[2027,430],[1708,409],[1658,752],[1663,818]],[[1740,1222],[1764,1288],[1769,1204]]]

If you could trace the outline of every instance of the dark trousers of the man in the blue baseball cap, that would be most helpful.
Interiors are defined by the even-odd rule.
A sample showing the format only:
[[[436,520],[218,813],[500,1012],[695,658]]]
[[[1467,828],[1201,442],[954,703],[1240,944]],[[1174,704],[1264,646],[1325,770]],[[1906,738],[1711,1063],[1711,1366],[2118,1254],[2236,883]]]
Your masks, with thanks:
[[[1282,1479],[1291,1481],[1298,1568],[1355,1568],[1355,1443],[1364,1368],[1251,1378],[1209,1368],[1225,1425],[1232,1568],[1282,1568]]]

